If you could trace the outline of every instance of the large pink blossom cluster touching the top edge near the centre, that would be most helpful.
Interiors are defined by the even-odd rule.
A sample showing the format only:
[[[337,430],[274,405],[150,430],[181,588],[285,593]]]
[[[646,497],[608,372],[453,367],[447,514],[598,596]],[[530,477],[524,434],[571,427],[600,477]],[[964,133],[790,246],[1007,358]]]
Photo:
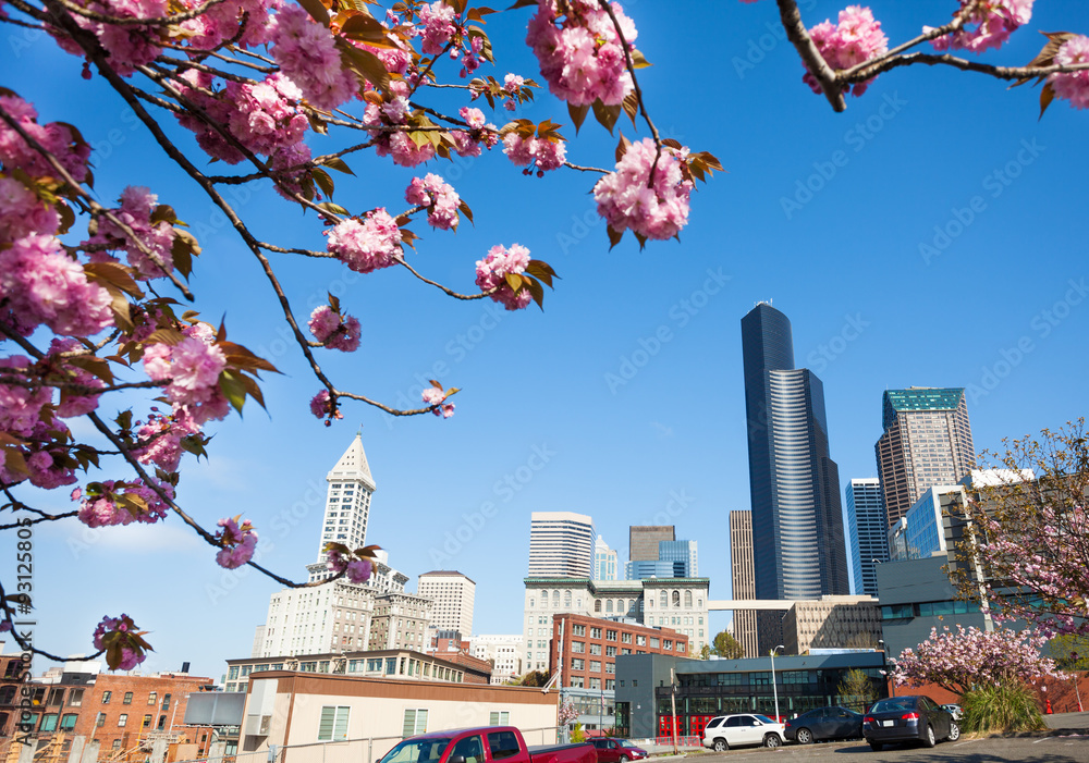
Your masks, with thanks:
[[[566,0],[563,11],[556,0],[540,0],[529,20],[526,44],[537,56],[541,75],[552,95],[572,106],[597,100],[617,106],[633,90],[626,52],[634,49],[635,24],[620,3],[610,9],[616,24],[597,0]]]

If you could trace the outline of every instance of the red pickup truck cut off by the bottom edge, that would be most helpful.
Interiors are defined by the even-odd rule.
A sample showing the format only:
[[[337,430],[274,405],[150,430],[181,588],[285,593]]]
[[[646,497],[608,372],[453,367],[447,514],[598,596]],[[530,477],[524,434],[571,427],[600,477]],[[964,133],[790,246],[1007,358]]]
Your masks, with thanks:
[[[597,763],[589,744],[526,747],[513,726],[482,726],[409,737],[378,763]]]

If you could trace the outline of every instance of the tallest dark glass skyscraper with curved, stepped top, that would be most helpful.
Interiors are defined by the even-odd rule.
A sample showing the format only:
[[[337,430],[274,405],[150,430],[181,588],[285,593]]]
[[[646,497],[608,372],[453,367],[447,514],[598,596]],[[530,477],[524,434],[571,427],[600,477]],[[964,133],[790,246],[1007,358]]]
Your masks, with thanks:
[[[840,475],[829,456],[823,385],[794,367],[791,321],[767,303],[742,319],[742,352],[756,595],[846,594]]]

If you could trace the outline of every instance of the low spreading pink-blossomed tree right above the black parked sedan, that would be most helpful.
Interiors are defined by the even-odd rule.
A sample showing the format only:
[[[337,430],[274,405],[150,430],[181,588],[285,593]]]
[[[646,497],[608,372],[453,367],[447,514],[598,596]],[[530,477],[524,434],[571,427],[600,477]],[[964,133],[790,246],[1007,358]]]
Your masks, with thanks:
[[[1063,678],[1054,661],[1040,655],[1047,642],[1045,636],[1030,630],[987,631],[957,625],[955,631],[944,626],[939,632],[932,628],[929,639],[917,649],[905,649],[893,661],[893,677],[897,684],[937,684],[958,694],[1010,680]]]

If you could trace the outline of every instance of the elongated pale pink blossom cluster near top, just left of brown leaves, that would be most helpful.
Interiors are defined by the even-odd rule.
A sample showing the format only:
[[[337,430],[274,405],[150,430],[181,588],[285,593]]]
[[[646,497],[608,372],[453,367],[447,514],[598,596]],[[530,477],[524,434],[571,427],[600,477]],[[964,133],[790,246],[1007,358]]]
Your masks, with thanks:
[[[291,3],[280,10],[271,40],[280,71],[311,106],[335,109],[358,91],[355,74],[344,66],[332,34],[301,5]]]

